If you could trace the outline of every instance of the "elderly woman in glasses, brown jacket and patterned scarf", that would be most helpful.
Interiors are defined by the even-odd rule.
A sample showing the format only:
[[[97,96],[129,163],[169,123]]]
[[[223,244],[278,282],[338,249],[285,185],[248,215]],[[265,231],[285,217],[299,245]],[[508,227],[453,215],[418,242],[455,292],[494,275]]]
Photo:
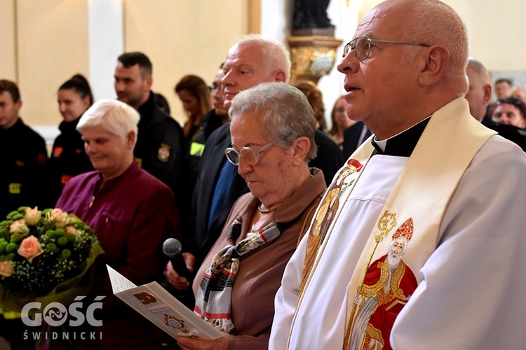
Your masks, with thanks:
[[[225,154],[250,188],[198,269],[194,311],[225,333],[176,337],[182,349],[267,349],[274,295],[325,191],[316,156],[316,119],[297,88],[264,83],[240,92]]]

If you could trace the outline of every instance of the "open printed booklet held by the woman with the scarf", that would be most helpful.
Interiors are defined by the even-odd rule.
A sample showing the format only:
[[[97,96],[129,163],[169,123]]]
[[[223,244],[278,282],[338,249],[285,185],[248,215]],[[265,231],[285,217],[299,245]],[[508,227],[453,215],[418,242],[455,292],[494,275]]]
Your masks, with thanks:
[[[159,283],[151,282],[137,287],[112,267],[106,267],[114,295],[172,337],[182,334],[215,339],[223,335],[220,330],[175,299]]]

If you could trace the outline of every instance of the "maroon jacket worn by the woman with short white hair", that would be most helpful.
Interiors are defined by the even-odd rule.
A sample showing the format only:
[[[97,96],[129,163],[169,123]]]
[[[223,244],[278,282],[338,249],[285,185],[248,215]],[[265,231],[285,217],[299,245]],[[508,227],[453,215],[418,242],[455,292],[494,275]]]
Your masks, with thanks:
[[[97,171],[75,176],[66,184],[56,207],[76,214],[93,228],[106,253],[105,262],[137,286],[159,279],[167,262],[163,241],[180,239],[172,191],[136,162],[102,188],[101,184],[102,175]],[[156,327],[113,296],[107,272],[102,270],[98,277],[95,293],[107,295],[102,329],[96,329],[97,334],[102,332],[102,341],[97,338],[100,344],[89,343],[86,348],[151,349],[160,344]]]

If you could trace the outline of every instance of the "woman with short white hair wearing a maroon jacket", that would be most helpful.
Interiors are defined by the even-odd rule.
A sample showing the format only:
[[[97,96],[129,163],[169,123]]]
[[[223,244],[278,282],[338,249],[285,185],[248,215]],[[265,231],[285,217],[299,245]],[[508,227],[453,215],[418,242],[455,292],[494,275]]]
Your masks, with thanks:
[[[133,158],[139,118],[135,109],[115,100],[96,102],[83,114],[76,128],[96,171],[68,181],[56,205],[90,225],[106,252],[105,262],[137,285],[162,276],[161,247],[177,234],[178,220],[170,188]],[[160,347],[158,328],[116,300],[107,273],[99,280],[94,294],[106,295],[103,325],[96,329],[102,337],[86,340],[86,349]]]

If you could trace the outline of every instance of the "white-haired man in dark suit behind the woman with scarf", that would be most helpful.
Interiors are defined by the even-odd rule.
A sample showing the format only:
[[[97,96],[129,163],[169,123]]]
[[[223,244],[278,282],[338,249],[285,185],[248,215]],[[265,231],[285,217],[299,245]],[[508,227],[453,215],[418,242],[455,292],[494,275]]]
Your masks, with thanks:
[[[288,83],[289,52],[282,43],[256,35],[243,36],[230,48],[222,71],[224,108],[229,109],[232,99],[243,90],[267,82]],[[326,183],[330,183],[344,162],[342,151],[323,132],[316,131],[314,141],[318,155],[309,162],[309,167],[321,169]],[[232,205],[248,192],[248,186],[237,173],[238,169],[224,156],[224,150],[230,146],[229,123],[215,130],[206,141],[192,200],[195,215],[183,242],[183,249],[192,253],[184,253],[190,266],[201,264],[219,237]],[[189,281],[173,273],[170,264],[167,275],[175,288],[184,289],[190,285]]]

